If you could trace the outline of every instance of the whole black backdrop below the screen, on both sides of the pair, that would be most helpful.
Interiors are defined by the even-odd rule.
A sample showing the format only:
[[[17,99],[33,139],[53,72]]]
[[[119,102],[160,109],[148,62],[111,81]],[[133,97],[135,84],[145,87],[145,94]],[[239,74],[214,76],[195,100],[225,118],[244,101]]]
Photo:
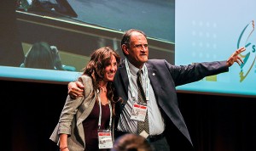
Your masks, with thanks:
[[[0,81],[0,85],[5,150],[56,151],[49,136],[61,114],[67,85],[26,81]],[[195,150],[256,150],[256,98],[177,96]]]

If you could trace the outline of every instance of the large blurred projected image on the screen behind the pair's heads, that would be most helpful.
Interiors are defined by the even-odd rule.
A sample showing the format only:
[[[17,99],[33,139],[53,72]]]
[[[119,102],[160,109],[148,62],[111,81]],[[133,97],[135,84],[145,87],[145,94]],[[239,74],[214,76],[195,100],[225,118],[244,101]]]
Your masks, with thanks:
[[[131,28],[148,33],[150,59],[174,63],[174,0],[2,1],[0,79],[73,81],[93,50],[111,47],[122,56],[120,39]]]

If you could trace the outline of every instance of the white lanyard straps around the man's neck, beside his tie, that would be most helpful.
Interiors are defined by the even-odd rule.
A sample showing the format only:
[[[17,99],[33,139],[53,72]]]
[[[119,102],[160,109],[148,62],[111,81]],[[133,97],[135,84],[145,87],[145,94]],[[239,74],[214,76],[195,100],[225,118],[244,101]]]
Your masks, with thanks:
[[[146,83],[146,100],[148,101],[149,98],[148,98],[148,93],[149,93],[149,80],[148,80],[148,69],[147,69],[147,66],[145,64],[143,64],[143,73],[145,73],[145,78],[143,78],[143,86],[144,86],[144,83]],[[129,65],[128,65],[128,61],[127,59],[125,58],[125,68],[126,68],[126,71],[127,71],[127,76],[128,76],[128,80],[129,80],[129,85],[131,87],[131,98],[133,98],[133,100],[136,100],[135,99],[135,94],[134,94],[134,86],[131,85],[131,72],[130,72],[130,68],[129,68]]]

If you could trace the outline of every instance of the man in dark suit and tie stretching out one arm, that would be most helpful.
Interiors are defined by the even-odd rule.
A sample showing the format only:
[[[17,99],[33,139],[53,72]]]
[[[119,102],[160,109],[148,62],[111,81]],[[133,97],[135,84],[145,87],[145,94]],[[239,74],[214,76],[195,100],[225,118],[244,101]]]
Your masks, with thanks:
[[[114,77],[115,98],[119,99],[115,106],[115,134],[140,134],[147,138],[156,151],[193,148],[188,128],[178,108],[175,87],[228,71],[234,62],[243,63],[238,54],[245,51],[245,48],[237,49],[226,61],[177,66],[164,59],[148,59],[147,36],[143,31],[135,29],[125,32],[121,48],[125,59]],[[138,70],[143,70],[145,104],[138,101]],[[70,82],[69,95],[73,98],[81,95],[82,90],[79,87],[83,86],[78,82]],[[137,106],[144,108],[141,115],[131,115],[133,110],[141,109]],[[140,117],[143,117],[144,125],[148,125],[149,131],[145,129],[138,132]]]

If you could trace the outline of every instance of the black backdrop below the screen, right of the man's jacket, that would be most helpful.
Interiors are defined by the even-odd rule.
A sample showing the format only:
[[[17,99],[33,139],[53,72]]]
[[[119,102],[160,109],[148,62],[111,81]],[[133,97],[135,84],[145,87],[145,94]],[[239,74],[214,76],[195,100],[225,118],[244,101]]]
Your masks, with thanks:
[[[178,93],[199,151],[256,150],[256,98]]]

